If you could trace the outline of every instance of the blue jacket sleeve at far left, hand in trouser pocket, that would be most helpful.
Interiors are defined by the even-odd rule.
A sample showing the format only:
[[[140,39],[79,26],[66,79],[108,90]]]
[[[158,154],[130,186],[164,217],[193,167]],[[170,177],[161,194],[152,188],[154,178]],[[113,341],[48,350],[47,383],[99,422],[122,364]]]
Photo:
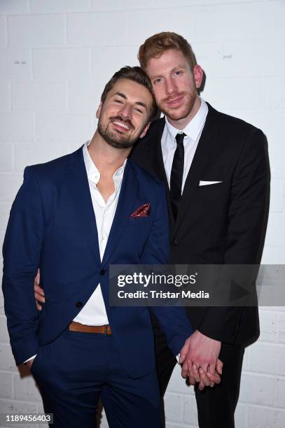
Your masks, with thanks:
[[[4,238],[3,293],[8,332],[16,364],[39,348],[39,311],[34,299],[34,277],[43,243],[43,207],[32,167],[13,202]]]

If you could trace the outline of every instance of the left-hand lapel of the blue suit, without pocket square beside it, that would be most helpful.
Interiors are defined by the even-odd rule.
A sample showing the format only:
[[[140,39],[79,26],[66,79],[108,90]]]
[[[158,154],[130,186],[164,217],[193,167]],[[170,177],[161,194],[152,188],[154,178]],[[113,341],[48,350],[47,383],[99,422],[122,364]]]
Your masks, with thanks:
[[[101,262],[97,235],[97,224],[92,205],[82,147],[70,155],[68,187],[70,189],[70,198],[75,201],[75,221],[78,222],[78,228],[84,229],[85,234],[83,236],[88,236],[88,240],[90,241],[90,250],[92,251],[96,263],[99,266]]]

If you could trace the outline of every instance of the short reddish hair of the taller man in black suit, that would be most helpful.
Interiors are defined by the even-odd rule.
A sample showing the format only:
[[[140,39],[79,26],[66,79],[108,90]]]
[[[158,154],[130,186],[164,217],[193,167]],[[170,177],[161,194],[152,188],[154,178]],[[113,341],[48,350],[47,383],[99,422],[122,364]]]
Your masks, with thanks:
[[[141,68],[146,69],[151,58],[159,58],[162,53],[170,49],[180,50],[186,57],[191,70],[193,70],[197,62],[190,44],[180,34],[169,31],[148,37],[144,44],[140,46],[138,58]]]

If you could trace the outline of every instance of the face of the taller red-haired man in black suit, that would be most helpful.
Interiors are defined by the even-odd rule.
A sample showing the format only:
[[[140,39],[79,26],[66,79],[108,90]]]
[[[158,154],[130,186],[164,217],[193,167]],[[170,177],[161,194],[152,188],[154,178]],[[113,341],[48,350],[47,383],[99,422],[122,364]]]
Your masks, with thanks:
[[[180,50],[166,50],[160,57],[151,58],[145,69],[151,79],[155,100],[169,122],[183,129],[200,107],[197,88],[203,71],[195,65],[193,71]]]

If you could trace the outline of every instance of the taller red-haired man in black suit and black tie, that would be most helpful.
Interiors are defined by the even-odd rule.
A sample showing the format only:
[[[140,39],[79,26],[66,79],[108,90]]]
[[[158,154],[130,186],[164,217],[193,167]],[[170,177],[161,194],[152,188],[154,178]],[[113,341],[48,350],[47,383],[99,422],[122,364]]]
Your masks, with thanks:
[[[189,43],[160,33],[139,49],[165,117],[151,125],[132,152],[146,171],[165,183],[170,227],[170,264],[255,264],[266,217],[265,136],[235,117],[219,113],[197,93],[203,71]],[[200,428],[232,428],[244,345],[258,336],[256,307],[191,307],[195,330],[181,352],[183,375],[195,387]],[[174,368],[163,334],[155,327],[160,390]],[[214,373],[223,362],[221,384],[203,391],[199,367]]]

